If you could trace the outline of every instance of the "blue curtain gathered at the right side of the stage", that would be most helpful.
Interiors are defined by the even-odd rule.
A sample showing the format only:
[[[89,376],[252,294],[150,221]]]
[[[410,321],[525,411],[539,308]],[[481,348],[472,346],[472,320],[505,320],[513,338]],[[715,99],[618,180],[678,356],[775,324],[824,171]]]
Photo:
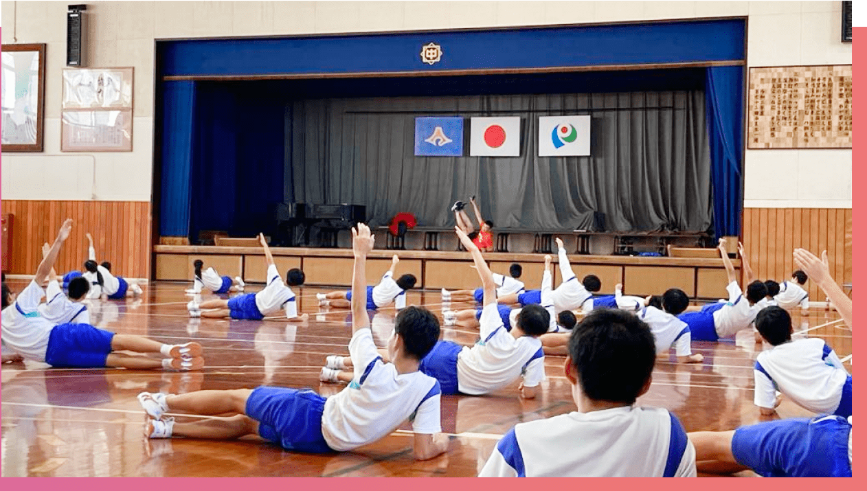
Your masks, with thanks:
[[[743,68],[707,68],[707,136],[714,195],[714,232],[740,236],[743,207]]]

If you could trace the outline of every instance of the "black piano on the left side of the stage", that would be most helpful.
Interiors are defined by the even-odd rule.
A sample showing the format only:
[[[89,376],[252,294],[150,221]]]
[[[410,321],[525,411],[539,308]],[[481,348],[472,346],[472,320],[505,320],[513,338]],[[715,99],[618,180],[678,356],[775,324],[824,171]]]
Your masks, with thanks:
[[[318,228],[323,236],[321,247],[337,247],[337,232],[349,230],[367,220],[363,204],[304,204],[274,205],[274,245],[283,247],[310,246],[310,229]]]

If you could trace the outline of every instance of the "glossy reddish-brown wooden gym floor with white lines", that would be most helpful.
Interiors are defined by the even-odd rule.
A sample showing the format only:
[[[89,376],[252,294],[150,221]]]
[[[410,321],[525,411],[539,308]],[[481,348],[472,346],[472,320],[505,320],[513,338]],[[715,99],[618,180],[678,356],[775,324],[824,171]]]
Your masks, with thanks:
[[[24,283],[10,285],[17,291]],[[327,354],[348,353],[351,331],[346,311],[319,311],[314,294],[324,288],[297,291],[301,311],[310,313],[304,325],[285,319],[189,319],[186,287],[189,284],[158,283],[145,289],[143,300],[102,302],[92,308],[91,320],[118,333],[166,343],[195,339],[205,346],[204,371],[3,365],[3,476],[474,476],[515,423],[575,410],[563,376],[564,359],[547,357],[548,380],[536,400],[520,399],[517,383],[486,397],[443,397],[442,427],[453,438],[447,455],[429,462],[414,461],[408,427],[354,452],[332,455],[294,454],[255,438],[148,440],[142,436],[146,417],[135,399],[140,391],[273,384],[313,387],[329,395],[342,388],[320,384],[318,378]],[[412,293],[408,300],[441,311],[439,292]],[[385,346],[393,316],[391,309],[375,314],[378,345]],[[795,314],[794,321],[798,336],[825,339],[841,359],[851,354],[851,331],[836,313],[815,311],[808,318]],[[477,338],[477,333],[453,328],[444,328],[443,335],[461,344]],[[704,363],[658,362],[653,385],[639,403],[672,410],[688,431],[730,430],[759,422],[753,406],[753,360],[760,349],[748,331],[735,343],[694,342]],[[778,412],[779,417],[810,414],[787,400]]]

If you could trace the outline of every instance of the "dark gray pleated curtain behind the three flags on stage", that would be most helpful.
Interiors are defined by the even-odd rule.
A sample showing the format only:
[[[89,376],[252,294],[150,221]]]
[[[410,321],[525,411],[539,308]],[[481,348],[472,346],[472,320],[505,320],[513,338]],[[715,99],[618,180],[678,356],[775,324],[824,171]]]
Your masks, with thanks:
[[[498,228],[705,231],[713,223],[702,92],[297,100],[287,107],[287,201],[365,204],[453,225],[476,195]],[[587,114],[591,157],[538,157],[538,117]],[[418,116],[521,116],[521,156],[415,157]],[[469,120],[464,149],[469,153]],[[473,216],[472,211],[470,215]]]

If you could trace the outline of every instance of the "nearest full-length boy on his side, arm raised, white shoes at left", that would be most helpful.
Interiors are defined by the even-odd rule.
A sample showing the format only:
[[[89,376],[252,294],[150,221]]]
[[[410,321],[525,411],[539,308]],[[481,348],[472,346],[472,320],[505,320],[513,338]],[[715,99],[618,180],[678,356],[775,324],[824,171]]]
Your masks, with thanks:
[[[420,359],[440,337],[440,324],[427,309],[402,310],[388,341],[394,363],[383,362],[365,312],[365,262],[374,241],[363,223],[352,230],[352,243],[355,268],[349,356],[356,368],[348,387],[327,399],[314,391],[271,386],[181,395],[142,392],[139,402],[153,418],[146,435],[219,440],[258,435],[287,450],[327,453],[374,443],[409,419],[417,459],[445,452],[448,439],[440,434],[440,384],[419,371]],[[235,416],[175,423],[172,417],[163,416],[170,410]]]

